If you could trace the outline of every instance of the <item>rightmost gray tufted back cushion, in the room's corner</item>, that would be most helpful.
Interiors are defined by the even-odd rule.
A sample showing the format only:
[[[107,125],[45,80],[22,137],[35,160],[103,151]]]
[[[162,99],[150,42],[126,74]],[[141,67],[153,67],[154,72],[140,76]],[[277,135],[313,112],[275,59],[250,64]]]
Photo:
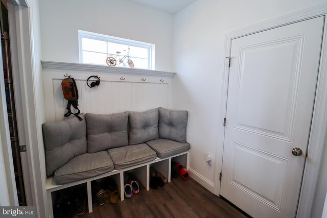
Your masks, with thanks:
[[[188,111],[173,111],[159,108],[159,137],[174,141],[186,142]]]

